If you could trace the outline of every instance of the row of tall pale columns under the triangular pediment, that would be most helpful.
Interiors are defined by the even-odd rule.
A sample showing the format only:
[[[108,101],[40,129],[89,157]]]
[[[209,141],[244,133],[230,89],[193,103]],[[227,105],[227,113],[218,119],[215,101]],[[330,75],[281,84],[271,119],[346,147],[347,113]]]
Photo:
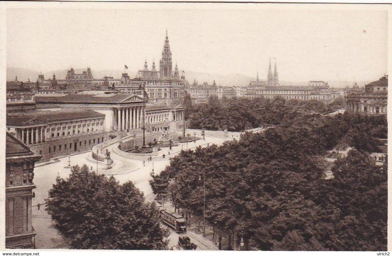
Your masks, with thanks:
[[[117,131],[128,131],[142,127],[145,109],[139,107],[123,107],[117,109]]]

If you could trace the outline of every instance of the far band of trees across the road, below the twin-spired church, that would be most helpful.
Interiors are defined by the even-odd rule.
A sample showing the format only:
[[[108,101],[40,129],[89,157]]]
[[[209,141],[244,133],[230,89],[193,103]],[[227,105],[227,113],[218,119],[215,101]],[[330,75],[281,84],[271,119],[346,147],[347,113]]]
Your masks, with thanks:
[[[260,125],[280,124],[302,113],[325,113],[343,107],[338,98],[325,104],[318,100],[285,100],[280,97],[221,98],[211,96],[208,102],[191,104],[186,98],[185,117],[192,129],[243,131]]]

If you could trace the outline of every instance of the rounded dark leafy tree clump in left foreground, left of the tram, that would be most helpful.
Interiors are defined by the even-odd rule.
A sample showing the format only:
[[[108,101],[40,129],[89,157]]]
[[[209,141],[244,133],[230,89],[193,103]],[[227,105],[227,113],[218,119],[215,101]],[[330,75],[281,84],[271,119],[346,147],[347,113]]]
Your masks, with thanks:
[[[74,249],[167,249],[154,204],[145,203],[132,182],[119,183],[74,166],[53,185],[46,210]]]

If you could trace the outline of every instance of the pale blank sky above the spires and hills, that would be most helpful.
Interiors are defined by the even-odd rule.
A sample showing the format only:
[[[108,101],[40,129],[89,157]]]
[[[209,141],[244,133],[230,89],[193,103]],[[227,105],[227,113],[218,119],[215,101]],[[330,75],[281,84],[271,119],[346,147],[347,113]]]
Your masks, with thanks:
[[[145,59],[151,68],[155,59],[159,69],[167,29],[173,69],[177,62],[180,70],[247,76],[258,71],[266,79],[271,57],[286,81],[375,80],[387,72],[387,12],[374,8],[122,4],[119,8],[134,9],[94,9],[102,6],[7,9],[7,67],[94,71],[126,64],[133,73]]]

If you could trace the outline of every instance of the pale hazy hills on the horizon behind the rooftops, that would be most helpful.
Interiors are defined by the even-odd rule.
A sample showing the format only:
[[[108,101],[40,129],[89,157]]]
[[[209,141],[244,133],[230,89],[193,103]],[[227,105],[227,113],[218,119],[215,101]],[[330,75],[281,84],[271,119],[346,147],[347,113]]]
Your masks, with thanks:
[[[75,69],[76,73],[82,73],[87,70],[86,68]],[[121,74],[124,70],[95,70],[91,69],[94,78],[103,78],[104,76],[113,76],[114,78],[120,78]],[[137,71],[128,72],[128,75],[131,78],[136,76]],[[36,81],[38,78],[39,71],[34,71],[30,69],[22,69],[15,67],[7,67],[7,81],[15,80],[15,76],[18,76],[19,81],[27,81],[30,78],[30,81]],[[65,79],[67,74],[67,69],[60,69],[50,72],[44,72],[45,79],[52,78],[53,74],[56,75],[57,79]],[[182,72],[180,71],[180,76]],[[185,78],[188,80],[189,84],[193,84],[193,81],[196,79],[199,84],[203,84],[203,82],[207,82],[208,84],[212,84],[215,80],[218,86],[247,86],[250,81],[256,80],[255,77],[246,76],[243,74],[211,74],[211,73],[203,73],[203,72],[194,72],[190,70],[184,70]],[[290,82],[290,81],[280,81],[281,85],[307,85],[309,81],[303,82]],[[344,88],[347,85],[352,87],[356,82],[360,87],[368,84],[372,81],[326,81],[328,82],[330,87]]]

